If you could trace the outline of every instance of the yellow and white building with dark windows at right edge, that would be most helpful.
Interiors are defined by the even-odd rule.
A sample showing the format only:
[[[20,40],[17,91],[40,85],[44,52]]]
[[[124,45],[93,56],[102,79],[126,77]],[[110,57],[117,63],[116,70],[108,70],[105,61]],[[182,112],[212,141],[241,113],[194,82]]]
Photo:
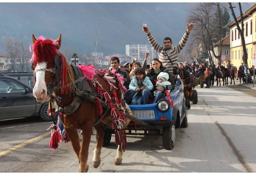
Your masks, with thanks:
[[[248,66],[252,66],[252,60],[256,52],[256,4],[243,13],[244,40],[248,54]],[[241,28],[241,16],[237,18]],[[235,21],[230,22],[226,28],[230,29],[230,62],[237,68],[243,63],[243,47],[241,37],[236,29]]]

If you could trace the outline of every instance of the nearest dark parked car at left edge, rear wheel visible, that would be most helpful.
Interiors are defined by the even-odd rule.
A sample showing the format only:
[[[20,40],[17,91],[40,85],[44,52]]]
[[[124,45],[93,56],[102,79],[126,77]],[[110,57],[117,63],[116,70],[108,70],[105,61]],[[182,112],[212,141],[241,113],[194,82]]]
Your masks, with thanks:
[[[44,121],[52,120],[48,103],[37,102],[31,86],[0,74],[0,120],[38,115]]]

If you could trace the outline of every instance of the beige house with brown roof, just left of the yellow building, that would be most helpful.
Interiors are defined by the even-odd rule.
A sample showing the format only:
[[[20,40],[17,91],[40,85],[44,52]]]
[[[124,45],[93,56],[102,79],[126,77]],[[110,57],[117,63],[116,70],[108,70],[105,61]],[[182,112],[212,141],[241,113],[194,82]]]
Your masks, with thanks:
[[[215,65],[217,65],[218,63],[220,63],[220,65],[224,63],[223,65],[225,65],[226,63],[225,61],[230,60],[230,34],[229,33],[226,33],[226,37],[222,39],[221,54],[220,54],[220,41],[214,44],[213,51],[215,55],[221,55],[221,56],[224,55],[226,57],[226,59],[224,61],[221,61],[220,63],[220,61],[216,57],[214,57],[214,55],[212,54],[212,59]]]

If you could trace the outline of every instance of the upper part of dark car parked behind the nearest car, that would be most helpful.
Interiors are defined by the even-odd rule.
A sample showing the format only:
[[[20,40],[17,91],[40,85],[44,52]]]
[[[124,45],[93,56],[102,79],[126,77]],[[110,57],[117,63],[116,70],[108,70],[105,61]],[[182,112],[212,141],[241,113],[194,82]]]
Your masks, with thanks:
[[[13,77],[22,83],[30,87],[34,87],[34,75],[33,72],[9,72],[9,73],[0,73],[1,75],[7,75]]]

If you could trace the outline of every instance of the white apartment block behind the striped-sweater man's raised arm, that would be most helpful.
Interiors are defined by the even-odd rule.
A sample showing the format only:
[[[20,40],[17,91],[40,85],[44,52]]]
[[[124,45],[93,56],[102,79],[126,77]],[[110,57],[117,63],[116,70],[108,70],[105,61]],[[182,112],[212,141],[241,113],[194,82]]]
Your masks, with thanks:
[[[151,45],[133,44],[125,46],[126,55],[137,59],[140,63],[142,63],[145,58],[145,52],[149,52],[148,62],[153,58],[158,58],[158,54]]]

